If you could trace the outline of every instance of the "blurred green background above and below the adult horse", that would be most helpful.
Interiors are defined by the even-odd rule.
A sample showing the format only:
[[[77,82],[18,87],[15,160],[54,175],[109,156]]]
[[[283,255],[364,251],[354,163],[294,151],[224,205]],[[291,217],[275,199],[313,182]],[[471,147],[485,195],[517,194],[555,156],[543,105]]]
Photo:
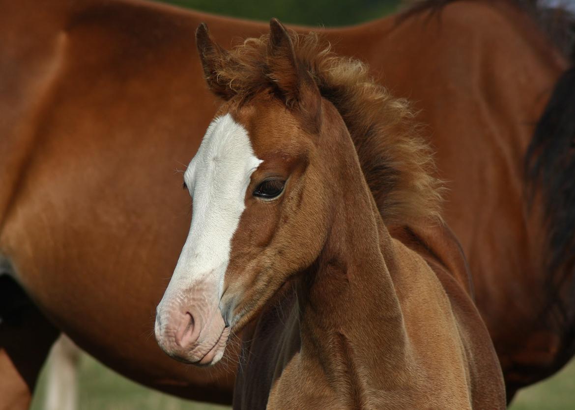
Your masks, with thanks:
[[[231,17],[262,21],[277,17],[286,24],[326,27],[360,24],[396,12],[405,6],[405,2],[400,0],[158,1]],[[228,409],[223,406],[185,401],[147,389],[105,368],[87,354],[81,355],[78,364],[78,408],[81,410]],[[34,396],[33,410],[44,409],[46,383],[45,368]],[[524,389],[510,408],[512,410],[575,409],[575,363],[572,362],[555,376]]]

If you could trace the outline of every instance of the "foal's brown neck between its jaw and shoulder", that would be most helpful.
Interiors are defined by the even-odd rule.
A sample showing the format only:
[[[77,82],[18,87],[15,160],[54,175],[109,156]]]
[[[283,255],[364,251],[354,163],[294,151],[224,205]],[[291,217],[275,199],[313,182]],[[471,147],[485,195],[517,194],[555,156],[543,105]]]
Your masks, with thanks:
[[[352,157],[338,178],[343,188],[325,247],[302,275],[297,303],[302,355],[319,359],[327,380],[347,380],[359,393],[374,387],[365,385],[370,380],[402,384],[409,353],[393,284],[397,245]]]

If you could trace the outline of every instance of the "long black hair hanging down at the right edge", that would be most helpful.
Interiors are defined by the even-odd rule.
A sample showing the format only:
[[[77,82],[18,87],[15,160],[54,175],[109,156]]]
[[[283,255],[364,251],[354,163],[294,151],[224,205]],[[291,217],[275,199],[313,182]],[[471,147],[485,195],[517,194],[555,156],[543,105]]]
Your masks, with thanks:
[[[557,321],[567,359],[575,353],[575,66],[555,84],[527,149],[525,170],[527,192],[542,198],[547,314]]]

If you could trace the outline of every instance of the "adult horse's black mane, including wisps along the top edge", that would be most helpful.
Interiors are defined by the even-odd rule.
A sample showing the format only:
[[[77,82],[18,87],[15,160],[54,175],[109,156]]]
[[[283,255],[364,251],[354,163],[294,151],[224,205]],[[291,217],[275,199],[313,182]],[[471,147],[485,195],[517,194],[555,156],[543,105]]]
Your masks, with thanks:
[[[438,13],[449,3],[459,0],[425,0],[416,2],[400,21],[425,10]],[[524,155],[524,192],[526,204],[532,209],[540,193],[546,235],[546,256],[542,270],[546,272],[545,290],[549,302],[539,314],[546,315],[549,326],[560,329],[564,361],[575,352],[575,14],[566,3],[550,5],[545,0],[510,0],[527,13],[546,34],[547,40],[571,64],[553,89],[549,102],[535,126]],[[557,371],[550,369],[549,374]]]

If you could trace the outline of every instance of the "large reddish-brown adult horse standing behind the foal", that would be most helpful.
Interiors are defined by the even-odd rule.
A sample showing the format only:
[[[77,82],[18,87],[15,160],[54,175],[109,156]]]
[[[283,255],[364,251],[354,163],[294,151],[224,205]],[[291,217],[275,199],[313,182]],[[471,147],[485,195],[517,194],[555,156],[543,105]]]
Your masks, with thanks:
[[[1,404],[25,407],[59,330],[134,380],[229,403],[225,366],[177,364],[150,335],[190,218],[173,170],[216,108],[194,30],[207,22],[229,44],[266,26],[129,0],[2,10]],[[565,59],[505,2],[455,2],[324,35],[421,109],[449,181],[444,216],[469,259],[508,396],[557,370],[573,346],[572,298],[555,300],[573,272],[569,130],[534,139],[530,208],[523,164]],[[563,190],[551,196],[541,174]]]

